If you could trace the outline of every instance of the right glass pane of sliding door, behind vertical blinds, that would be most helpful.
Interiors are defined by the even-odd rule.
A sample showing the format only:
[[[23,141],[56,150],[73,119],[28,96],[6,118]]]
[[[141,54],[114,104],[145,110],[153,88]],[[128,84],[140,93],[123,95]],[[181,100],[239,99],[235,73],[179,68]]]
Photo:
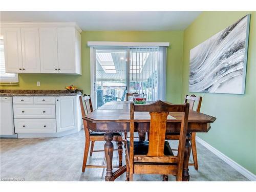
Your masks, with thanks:
[[[131,49],[130,93],[144,93],[146,94],[146,100],[157,100],[157,81],[158,48]]]

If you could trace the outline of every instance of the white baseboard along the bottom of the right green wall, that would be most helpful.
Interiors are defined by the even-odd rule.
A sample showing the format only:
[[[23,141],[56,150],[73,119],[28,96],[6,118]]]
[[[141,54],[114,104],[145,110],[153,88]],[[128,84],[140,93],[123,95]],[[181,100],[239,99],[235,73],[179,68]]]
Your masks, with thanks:
[[[209,145],[207,142],[204,140],[200,139],[198,136],[196,136],[196,140],[202,144],[204,147],[206,147],[210,152],[214,153],[217,155],[219,158],[221,158],[223,161],[225,161],[227,164],[229,164],[231,167],[236,169],[239,173],[241,173],[243,176],[245,176],[247,179],[250,181],[256,181],[256,175],[253,173],[249,172],[246,168],[238,164],[237,162],[234,162],[232,159],[218,151],[216,148],[213,146]]]

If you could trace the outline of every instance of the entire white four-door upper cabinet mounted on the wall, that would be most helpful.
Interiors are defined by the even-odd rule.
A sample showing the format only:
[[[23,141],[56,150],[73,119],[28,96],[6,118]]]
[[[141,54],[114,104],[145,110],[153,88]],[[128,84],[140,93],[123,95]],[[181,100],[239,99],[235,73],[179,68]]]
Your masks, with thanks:
[[[8,73],[81,74],[75,23],[1,23]]]

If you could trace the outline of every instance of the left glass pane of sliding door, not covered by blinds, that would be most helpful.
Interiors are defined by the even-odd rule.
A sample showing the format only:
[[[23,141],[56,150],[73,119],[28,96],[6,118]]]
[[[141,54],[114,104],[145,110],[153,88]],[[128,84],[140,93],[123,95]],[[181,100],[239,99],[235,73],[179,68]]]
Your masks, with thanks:
[[[126,50],[96,50],[97,108],[126,99]]]

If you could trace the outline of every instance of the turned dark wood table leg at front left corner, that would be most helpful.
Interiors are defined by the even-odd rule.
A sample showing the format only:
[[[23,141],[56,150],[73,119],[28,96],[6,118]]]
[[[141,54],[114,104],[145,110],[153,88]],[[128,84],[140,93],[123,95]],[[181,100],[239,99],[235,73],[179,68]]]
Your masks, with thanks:
[[[112,159],[113,159],[113,143],[111,142],[113,140],[113,133],[105,133],[104,134],[104,140],[106,143],[104,144],[104,152],[105,152],[105,158],[106,158],[106,176],[105,181],[114,181],[113,177],[113,168],[112,168]]]

